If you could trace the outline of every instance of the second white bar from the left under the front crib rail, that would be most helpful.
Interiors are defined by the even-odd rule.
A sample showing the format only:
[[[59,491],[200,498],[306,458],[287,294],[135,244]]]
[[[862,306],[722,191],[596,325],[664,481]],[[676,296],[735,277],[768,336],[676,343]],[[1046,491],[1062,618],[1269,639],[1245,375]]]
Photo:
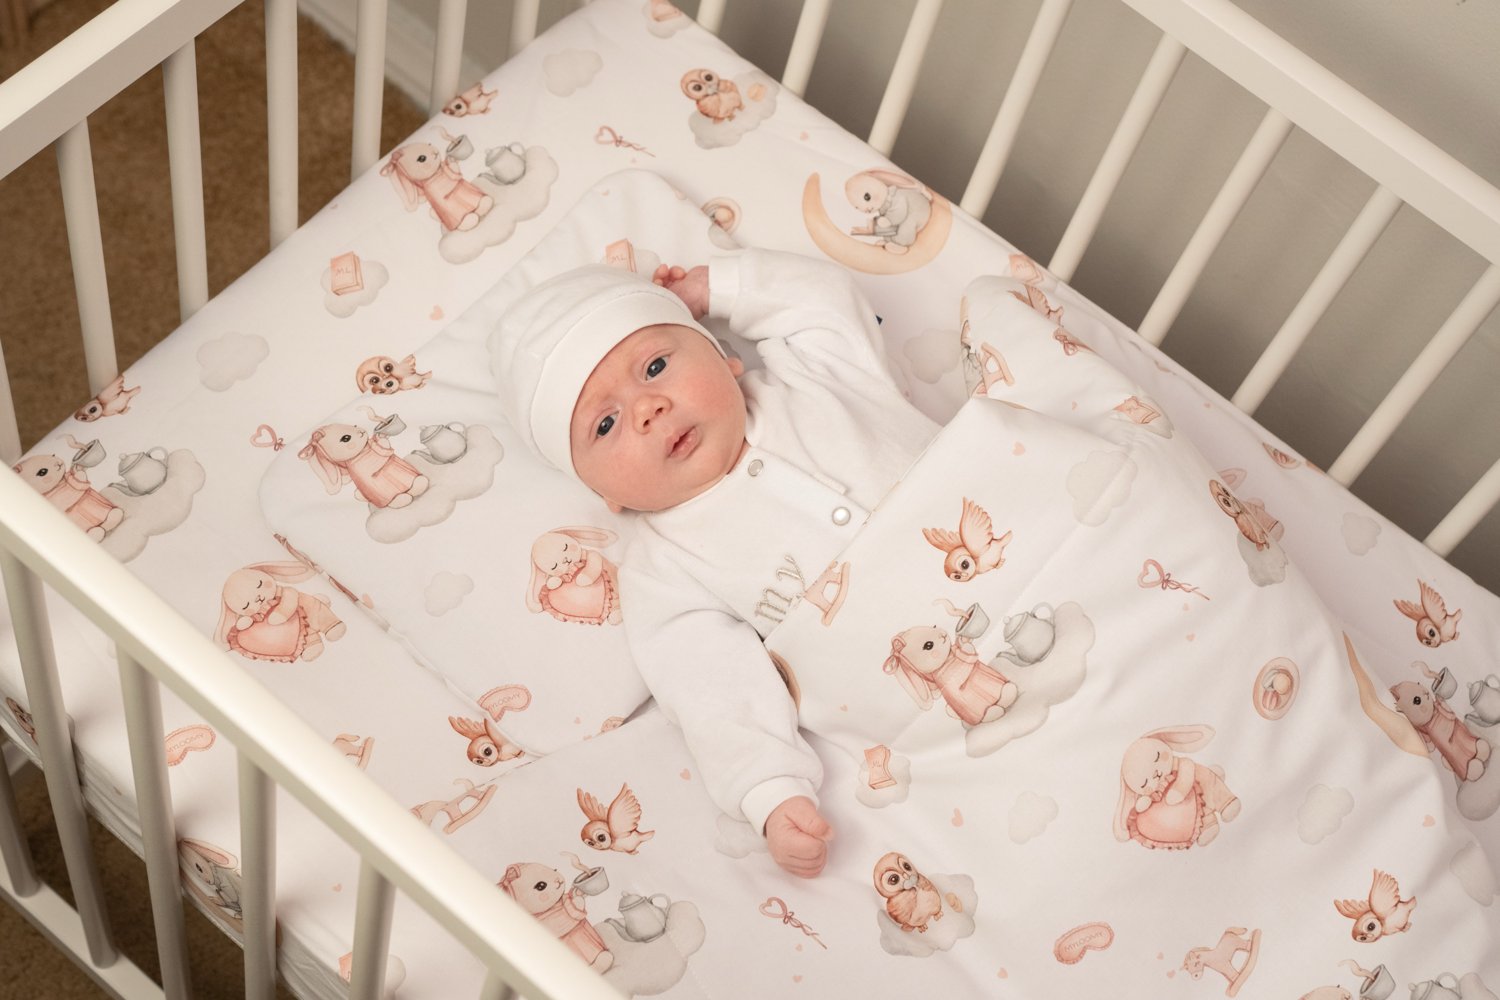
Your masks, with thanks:
[[[135,777],[135,808],[141,820],[152,919],[156,927],[156,954],[162,960],[162,991],[166,1000],[189,1000],[192,982],[183,931],[177,823],[172,819],[172,792],[166,781],[162,744],[162,693],[156,678],[141,664],[123,651],[116,655],[120,663],[120,694],[130,744],[130,774]]]

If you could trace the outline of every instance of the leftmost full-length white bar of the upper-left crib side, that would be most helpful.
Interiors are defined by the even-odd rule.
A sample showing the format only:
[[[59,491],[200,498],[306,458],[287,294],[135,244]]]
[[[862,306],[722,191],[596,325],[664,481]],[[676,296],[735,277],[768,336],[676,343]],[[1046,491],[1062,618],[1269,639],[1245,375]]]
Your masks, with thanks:
[[[104,274],[104,237],[99,234],[88,118],[57,139],[57,174],[63,184],[63,216],[68,220],[68,250],[74,261],[78,318],[84,330],[88,391],[98,393],[120,373],[120,366],[114,355],[114,322],[110,318],[110,288]]]

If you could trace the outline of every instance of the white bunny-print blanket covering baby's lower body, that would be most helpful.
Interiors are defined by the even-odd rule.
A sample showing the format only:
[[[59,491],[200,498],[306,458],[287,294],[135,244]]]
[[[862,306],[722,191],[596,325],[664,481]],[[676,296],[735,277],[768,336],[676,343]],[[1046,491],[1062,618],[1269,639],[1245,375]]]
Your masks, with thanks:
[[[824,874],[648,711],[500,783],[501,888],[634,996],[1492,1000],[1500,765],[1452,679],[1377,688],[1402,654],[1034,286],[972,283],[963,336],[975,397],[766,639]]]

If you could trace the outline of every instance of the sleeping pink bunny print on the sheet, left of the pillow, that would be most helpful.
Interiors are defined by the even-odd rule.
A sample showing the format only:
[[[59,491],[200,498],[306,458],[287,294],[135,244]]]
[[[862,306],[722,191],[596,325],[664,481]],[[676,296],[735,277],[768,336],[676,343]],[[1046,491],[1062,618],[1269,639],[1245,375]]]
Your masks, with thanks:
[[[312,570],[300,562],[260,562],[231,573],[224,583],[214,642],[250,660],[316,660],[322,640],[340,639],[345,625],[328,598],[285,586],[310,576]]]

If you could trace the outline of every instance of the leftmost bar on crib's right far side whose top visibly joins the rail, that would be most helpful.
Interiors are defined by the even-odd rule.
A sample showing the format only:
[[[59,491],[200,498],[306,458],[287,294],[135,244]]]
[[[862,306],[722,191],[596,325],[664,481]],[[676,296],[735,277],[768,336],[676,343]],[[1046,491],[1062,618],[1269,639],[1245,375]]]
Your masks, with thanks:
[[[1062,232],[1062,240],[1058,241],[1058,249],[1053,250],[1052,261],[1047,262],[1047,270],[1060,280],[1072,280],[1074,271],[1078,270],[1078,262],[1100,228],[1104,210],[1114,196],[1114,189],[1119,186],[1120,177],[1125,175],[1131,157],[1136,156],[1136,150],[1146,135],[1146,126],[1156,115],[1186,51],[1182,42],[1170,34],[1162,34],[1156,43],[1156,51],[1152,52],[1150,61],[1136,85],[1136,93],[1131,94],[1125,114],[1120,115],[1120,123],[1114,127],[1114,135],[1110,136],[1110,144],[1104,148],[1098,166],[1094,168],[1094,177],[1089,178],[1089,186],[1083,192],[1083,198],[1078,199],[1078,207],[1072,210],[1072,217]]]

